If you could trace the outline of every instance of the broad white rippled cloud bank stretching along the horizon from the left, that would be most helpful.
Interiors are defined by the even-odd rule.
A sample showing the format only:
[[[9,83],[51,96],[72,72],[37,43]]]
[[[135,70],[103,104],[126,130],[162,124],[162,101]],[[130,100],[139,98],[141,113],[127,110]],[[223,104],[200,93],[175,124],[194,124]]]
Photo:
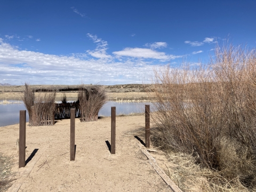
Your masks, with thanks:
[[[97,39],[96,39],[97,40]],[[6,83],[24,84],[125,84],[141,83],[151,75],[145,61],[115,62],[18,50],[0,38],[0,76]],[[67,73],[68,71],[68,73]],[[146,79],[147,80],[147,79]],[[4,82],[3,82],[4,83]]]

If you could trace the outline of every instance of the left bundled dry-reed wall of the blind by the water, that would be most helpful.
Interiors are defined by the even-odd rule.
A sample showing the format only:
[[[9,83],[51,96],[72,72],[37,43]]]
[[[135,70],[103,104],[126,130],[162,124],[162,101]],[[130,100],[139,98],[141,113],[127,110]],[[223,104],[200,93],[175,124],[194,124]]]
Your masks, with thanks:
[[[49,93],[35,93],[28,84],[25,84],[24,97],[22,98],[29,114],[31,126],[54,125],[56,91]]]

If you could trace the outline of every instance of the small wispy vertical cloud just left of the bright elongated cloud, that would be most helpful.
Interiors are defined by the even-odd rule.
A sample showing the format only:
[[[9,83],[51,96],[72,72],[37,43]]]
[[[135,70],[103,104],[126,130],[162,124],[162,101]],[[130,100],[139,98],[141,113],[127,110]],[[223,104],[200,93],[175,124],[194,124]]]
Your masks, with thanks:
[[[103,41],[101,38],[98,38],[97,35],[87,34],[88,37],[90,37],[93,40],[93,43],[97,43],[97,47],[94,50],[87,50],[86,52],[92,55],[92,57],[95,58],[101,58],[101,59],[110,59],[112,58],[111,55],[107,54],[108,50],[108,42]]]

